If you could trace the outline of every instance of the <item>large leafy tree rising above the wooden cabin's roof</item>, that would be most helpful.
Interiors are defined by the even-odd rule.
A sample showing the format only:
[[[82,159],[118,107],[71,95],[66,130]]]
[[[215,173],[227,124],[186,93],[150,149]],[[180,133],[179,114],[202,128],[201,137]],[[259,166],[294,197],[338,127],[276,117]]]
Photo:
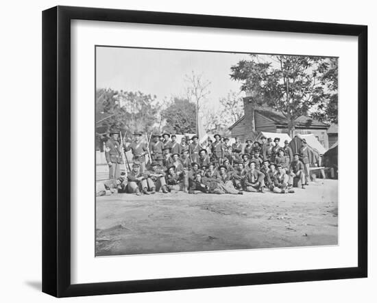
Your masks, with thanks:
[[[241,90],[250,95],[255,105],[280,111],[287,118],[291,135],[297,118],[308,115],[317,105],[335,101],[326,92],[328,58],[269,55],[267,61],[260,55],[250,57],[231,67],[231,79],[242,81]]]

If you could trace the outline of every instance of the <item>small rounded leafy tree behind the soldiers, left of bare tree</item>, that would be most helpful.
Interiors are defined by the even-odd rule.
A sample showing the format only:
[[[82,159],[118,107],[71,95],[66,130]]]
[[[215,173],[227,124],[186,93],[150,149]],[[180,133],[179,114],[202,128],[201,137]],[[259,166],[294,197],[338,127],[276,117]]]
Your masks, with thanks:
[[[195,133],[195,114],[195,103],[184,98],[173,98],[171,105],[161,112],[161,117],[167,122],[165,131],[178,134]]]

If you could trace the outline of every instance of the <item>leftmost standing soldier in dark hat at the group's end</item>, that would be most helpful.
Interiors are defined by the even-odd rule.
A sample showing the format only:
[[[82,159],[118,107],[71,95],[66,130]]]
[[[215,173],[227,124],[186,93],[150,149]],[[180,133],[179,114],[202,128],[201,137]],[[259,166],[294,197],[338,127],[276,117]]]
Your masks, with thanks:
[[[121,176],[122,150],[119,139],[119,129],[110,131],[110,139],[106,142],[105,157],[109,167],[109,179]]]

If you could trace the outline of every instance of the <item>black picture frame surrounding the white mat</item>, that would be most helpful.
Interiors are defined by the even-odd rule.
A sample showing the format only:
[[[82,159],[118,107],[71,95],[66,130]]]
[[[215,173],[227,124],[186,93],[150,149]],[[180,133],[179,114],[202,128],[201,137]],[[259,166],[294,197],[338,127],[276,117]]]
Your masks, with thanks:
[[[71,284],[71,20],[358,37],[358,266]],[[57,6],[42,12],[42,291],[56,297],[367,277],[367,26]],[[91,198],[91,197],[90,197]]]

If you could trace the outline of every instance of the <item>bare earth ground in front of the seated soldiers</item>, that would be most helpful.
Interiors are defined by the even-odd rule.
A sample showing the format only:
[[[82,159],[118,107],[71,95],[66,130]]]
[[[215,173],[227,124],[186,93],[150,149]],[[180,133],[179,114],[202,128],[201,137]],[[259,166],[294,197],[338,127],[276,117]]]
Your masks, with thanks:
[[[337,180],[295,191],[102,196],[96,254],[337,245]]]

